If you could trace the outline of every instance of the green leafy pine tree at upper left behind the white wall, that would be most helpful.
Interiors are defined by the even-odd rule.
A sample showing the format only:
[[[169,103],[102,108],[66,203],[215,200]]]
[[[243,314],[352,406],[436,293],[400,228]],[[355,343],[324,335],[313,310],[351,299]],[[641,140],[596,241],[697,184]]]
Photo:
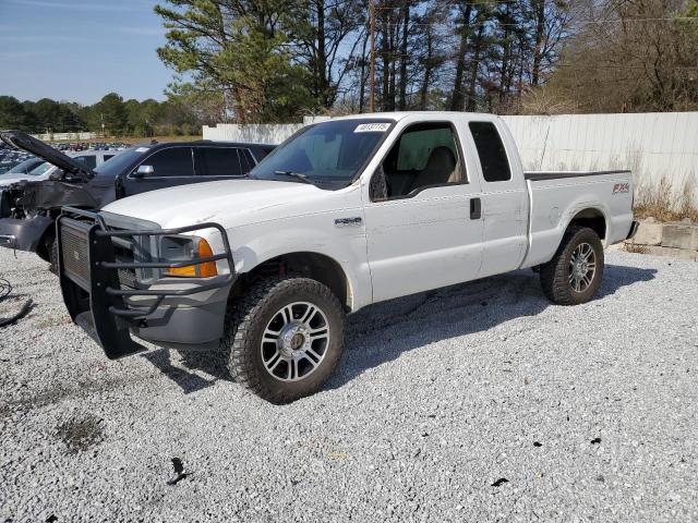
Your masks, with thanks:
[[[222,93],[226,113],[240,122],[284,121],[313,105],[308,71],[293,62],[289,33],[298,2],[288,0],[168,0],[157,5],[167,44],[160,59],[194,88]]]

